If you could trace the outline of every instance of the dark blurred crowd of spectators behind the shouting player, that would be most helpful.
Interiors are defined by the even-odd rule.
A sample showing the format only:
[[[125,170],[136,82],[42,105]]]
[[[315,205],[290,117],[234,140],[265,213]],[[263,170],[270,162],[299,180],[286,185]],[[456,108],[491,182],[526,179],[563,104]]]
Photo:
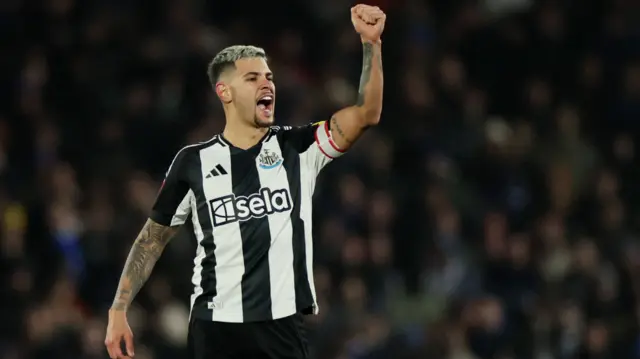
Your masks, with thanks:
[[[321,174],[314,359],[640,357],[640,5],[367,0],[379,127]],[[185,144],[222,130],[206,64],[270,57],[281,124],[357,92],[346,0],[0,1],[0,356],[98,359],[124,260]],[[194,239],[129,313],[185,357]]]

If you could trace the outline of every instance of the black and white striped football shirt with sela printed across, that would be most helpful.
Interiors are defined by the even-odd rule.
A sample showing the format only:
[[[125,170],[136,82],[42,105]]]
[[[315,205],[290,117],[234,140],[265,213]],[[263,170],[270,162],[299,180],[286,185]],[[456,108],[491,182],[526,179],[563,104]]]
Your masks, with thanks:
[[[340,155],[328,122],[273,126],[247,150],[216,135],[178,152],[151,219],[193,222],[192,316],[240,323],[318,312],[311,197]]]

